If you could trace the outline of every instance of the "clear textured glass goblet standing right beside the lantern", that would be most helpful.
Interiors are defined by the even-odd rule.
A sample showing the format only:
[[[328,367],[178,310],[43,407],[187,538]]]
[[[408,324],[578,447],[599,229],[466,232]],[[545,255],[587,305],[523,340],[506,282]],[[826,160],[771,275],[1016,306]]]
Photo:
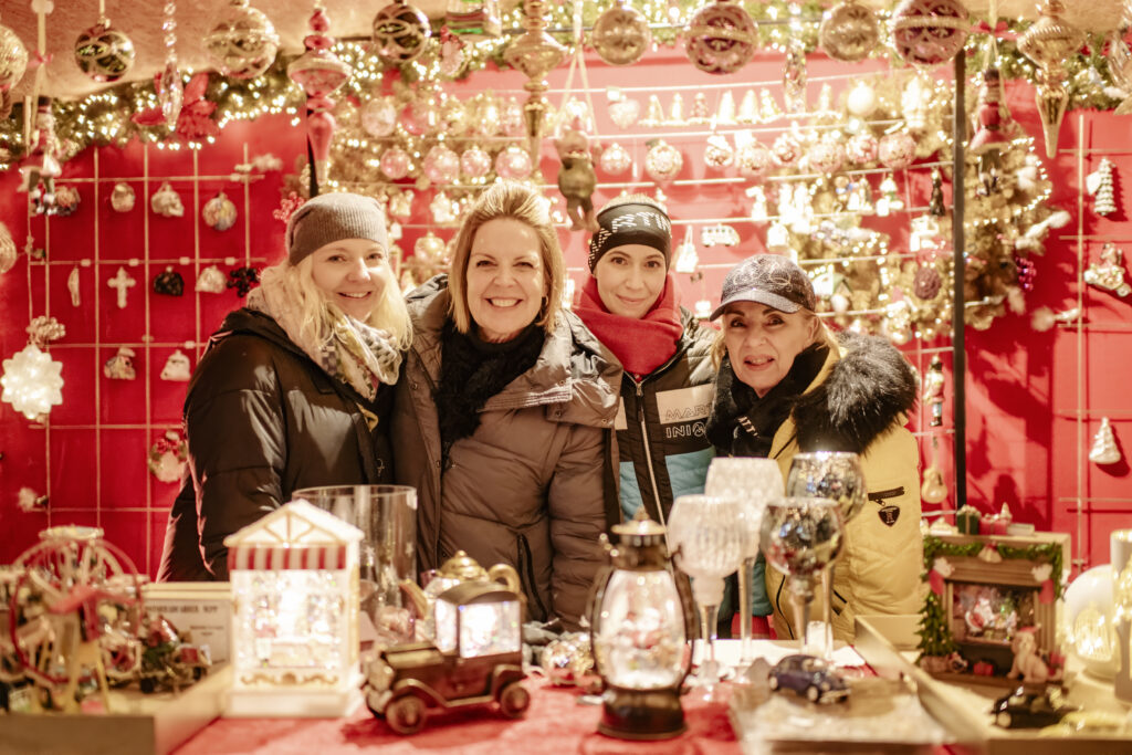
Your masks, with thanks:
[[[715,660],[715,621],[723,600],[723,578],[743,561],[743,530],[735,523],[743,515],[736,498],[679,496],[668,516],[668,542],[677,568],[692,577],[692,597],[700,609],[701,637],[707,660],[700,663],[693,684],[711,697],[719,681]]]

